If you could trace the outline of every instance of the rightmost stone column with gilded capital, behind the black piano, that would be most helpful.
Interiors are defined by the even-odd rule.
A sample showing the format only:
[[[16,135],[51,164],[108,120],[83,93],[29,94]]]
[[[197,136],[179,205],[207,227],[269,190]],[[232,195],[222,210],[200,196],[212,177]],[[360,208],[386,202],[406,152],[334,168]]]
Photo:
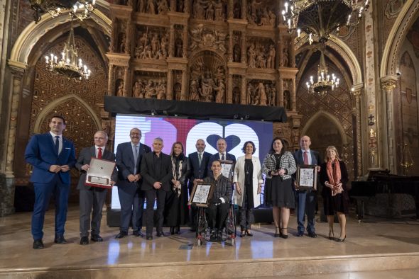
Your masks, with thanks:
[[[383,142],[383,146],[387,147],[388,152],[388,169],[391,173],[397,173],[397,162],[396,162],[396,131],[394,130],[394,108],[393,108],[393,89],[396,88],[397,77],[396,76],[385,76],[381,78],[381,89],[386,93],[385,100],[383,103],[383,113],[386,115],[386,127],[387,137],[386,144]],[[383,138],[384,139],[384,138]]]

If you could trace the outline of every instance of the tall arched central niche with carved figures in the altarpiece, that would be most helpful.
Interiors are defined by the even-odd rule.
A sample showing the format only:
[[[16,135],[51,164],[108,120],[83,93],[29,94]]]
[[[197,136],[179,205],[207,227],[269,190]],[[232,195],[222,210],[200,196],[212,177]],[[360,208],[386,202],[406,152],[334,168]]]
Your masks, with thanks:
[[[190,63],[189,100],[224,103],[226,66],[222,57],[212,51],[202,51]]]

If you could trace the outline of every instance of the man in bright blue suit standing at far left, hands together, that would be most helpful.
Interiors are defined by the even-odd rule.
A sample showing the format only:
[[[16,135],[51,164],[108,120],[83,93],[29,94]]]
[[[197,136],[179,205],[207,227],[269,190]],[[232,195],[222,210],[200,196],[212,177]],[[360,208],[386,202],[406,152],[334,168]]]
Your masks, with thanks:
[[[32,215],[33,249],[43,249],[43,222],[50,203],[55,196],[55,239],[65,244],[64,225],[67,220],[68,193],[70,192],[70,169],[75,165],[75,147],[62,137],[65,119],[55,115],[51,118],[50,132],[33,135],[25,150],[25,159],[33,166],[31,182],[35,190],[35,205]]]

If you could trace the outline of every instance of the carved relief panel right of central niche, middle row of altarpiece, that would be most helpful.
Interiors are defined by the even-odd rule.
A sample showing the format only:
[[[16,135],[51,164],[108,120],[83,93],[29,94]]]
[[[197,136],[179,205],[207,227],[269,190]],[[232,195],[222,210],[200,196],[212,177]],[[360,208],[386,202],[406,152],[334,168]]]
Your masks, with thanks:
[[[275,69],[276,50],[269,38],[249,38],[247,64],[250,68]]]

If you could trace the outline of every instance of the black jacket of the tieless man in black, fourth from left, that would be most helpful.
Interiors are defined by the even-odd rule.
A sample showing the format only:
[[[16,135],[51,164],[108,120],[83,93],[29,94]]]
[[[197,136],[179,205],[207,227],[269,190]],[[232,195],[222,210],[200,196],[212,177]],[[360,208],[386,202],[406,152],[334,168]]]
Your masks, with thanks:
[[[141,176],[143,183],[141,190],[153,190],[153,184],[156,181],[162,183],[162,188],[165,191],[170,191],[170,183],[173,178],[172,159],[168,154],[160,153],[161,165],[160,172],[157,173],[153,166],[154,152],[143,155],[141,160]]]

